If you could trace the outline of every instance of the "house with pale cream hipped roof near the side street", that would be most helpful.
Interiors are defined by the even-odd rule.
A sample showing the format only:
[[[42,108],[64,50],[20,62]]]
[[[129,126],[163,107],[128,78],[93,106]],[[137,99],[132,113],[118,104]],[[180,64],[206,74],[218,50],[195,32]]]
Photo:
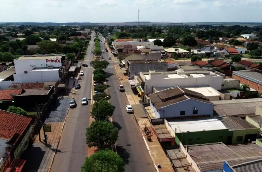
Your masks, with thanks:
[[[164,49],[167,53],[168,58],[190,58],[191,54],[189,51],[174,46],[173,48]]]

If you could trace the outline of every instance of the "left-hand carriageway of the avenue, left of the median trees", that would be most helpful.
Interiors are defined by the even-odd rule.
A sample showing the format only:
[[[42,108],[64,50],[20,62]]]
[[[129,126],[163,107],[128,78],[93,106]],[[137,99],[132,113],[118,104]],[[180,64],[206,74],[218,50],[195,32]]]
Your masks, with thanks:
[[[92,39],[93,40],[93,39]],[[85,59],[92,59],[91,50],[94,42],[90,41]],[[89,65],[89,62],[86,61]],[[89,105],[82,106],[83,97],[91,98],[92,68],[82,68],[85,75],[79,80],[81,88],[77,90],[74,97],[77,102],[75,109],[70,109],[62,137],[58,146],[57,154],[51,168],[51,172],[79,172],[86,157],[85,129],[89,126]]]

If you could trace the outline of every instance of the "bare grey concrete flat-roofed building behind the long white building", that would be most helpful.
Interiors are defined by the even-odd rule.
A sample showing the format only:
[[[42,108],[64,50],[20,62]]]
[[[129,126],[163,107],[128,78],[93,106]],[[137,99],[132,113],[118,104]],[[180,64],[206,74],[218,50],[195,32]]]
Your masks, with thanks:
[[[128,76],[137,76],[139,72],[155,70],[158,72],[167,71],[167,63],[160,60],[128,60]]]

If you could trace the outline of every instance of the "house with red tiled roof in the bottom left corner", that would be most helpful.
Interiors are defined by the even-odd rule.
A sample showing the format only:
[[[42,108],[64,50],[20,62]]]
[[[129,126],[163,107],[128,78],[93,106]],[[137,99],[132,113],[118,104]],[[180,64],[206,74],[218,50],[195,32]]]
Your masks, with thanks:
[[[1,109],[0,118],[1,171],[6,171],[12,167],[22,169],[25,160],[19,158],[29,145],[29,139],[33,131],[31,126],[32,118]]]

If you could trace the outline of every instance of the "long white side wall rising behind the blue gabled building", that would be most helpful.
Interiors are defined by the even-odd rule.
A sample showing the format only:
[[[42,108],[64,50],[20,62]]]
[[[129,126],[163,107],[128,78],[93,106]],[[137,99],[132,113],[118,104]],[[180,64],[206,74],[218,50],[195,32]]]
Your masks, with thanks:
[[[153,87],[155,88],[168,88],[172,86],[180,87],[205,87],[209,86],[216,90],[221,90],[222,76],[205,75],[205,77],[193,78],[176,78],[176,79],[163,79],[161,74],[151,75],[150,80],[145,80],[145,94],[149,95],[153,93]]]

